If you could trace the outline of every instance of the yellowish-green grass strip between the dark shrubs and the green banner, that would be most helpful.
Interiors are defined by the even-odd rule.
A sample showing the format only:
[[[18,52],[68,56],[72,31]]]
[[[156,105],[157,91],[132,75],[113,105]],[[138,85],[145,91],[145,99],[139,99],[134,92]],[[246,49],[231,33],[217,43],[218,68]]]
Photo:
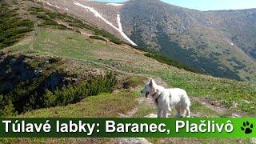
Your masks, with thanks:
[[[99,94],[88,97],[76,104],[68,106],[56,106],[47,109],[33,110],[18,117],[26,118],[106,118],[118,117],[118,114],[126,114],[134,109],[138,103],[136,95],[129,90],[122,90],[117,94]]]

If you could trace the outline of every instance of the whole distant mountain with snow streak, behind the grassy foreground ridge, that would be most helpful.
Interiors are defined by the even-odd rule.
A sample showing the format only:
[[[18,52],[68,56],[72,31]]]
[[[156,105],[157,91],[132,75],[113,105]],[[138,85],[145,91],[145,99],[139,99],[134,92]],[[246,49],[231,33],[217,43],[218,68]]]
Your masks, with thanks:
[[[256,79],[256,9],[202,12],[160,0],[42,2],[207,74]]]

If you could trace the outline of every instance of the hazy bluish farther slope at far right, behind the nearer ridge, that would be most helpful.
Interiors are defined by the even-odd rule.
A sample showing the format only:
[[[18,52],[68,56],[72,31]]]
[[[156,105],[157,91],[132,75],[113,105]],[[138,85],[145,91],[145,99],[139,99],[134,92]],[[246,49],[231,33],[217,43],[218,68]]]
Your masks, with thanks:
[[[206,16],[211,26],[222,30],[235,45],[255,59],[255,9],[209,11]]]

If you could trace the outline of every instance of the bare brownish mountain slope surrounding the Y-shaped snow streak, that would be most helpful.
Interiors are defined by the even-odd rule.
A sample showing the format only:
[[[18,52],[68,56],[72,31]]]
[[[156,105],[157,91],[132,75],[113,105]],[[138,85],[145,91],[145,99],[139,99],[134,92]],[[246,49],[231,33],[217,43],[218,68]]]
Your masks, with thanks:
[[[94,2],[94,1],[83,1],[83,0],[38,0],[38,2],[43,2],[45,6],[50,6],[49,3],[53,6],[55,10],[58,10],[62,13],[67,13],[73,15],[75,18],[80,18],[85,22],[90,22],[91,25],[97,26],[101,29],[107,30],[111,34],[114,34],[115,37],[126,41],[125,38],[118,32],[118,30],[114,29],[113,26],[118,27],[117,23],[117,14],[120,10],[121,6],[112,6],[106,5],[106,3],[102,2]],[[99,14],[102,14],[103,18],[106,18],[108,22],[110,22],[113,26],[110,26],[102,18],[99,18],[98,15],[95,15],[91,10],[85,9],[81,6],[77,6],[74,2],[79,2],[84,6],[88,6],[96,10]],[[58,6],[54,7],[54,6]]]

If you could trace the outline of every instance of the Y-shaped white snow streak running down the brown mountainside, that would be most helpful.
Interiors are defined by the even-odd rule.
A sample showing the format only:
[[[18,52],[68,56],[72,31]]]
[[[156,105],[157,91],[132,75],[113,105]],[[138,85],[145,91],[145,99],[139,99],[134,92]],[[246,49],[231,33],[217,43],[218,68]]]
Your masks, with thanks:
[[[111,22],[107,21],[106,18],[103,18],[101,14],[98,13],[97,10],[95,10],[93,7],[90,6],[84,6],[81,3],[78,2],[73,2],[74,5],[76,6],[81,6],[82,8],[86,9],[87,11],[90,11],[94,13],[95,17],[101,18],[104,22],[106,22],[108,25],[113,27],[115,30],[118,30],[118,32],[122,35],[123,38],[125,38],[128,42],[130,42],[132,45],[137,46],[128,36],[122,31],[122,24],[121,24],[121,19],[120,15],[117,15],[117,21],[118,21],[118,27],[114,26]]]

